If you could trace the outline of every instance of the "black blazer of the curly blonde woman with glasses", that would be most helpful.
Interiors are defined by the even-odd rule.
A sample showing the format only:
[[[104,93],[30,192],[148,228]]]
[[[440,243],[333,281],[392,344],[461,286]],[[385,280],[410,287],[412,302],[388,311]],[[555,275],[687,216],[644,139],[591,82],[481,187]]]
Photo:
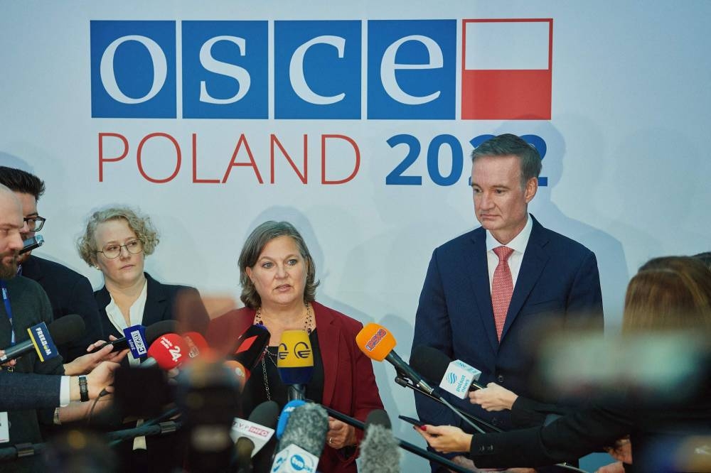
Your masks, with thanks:
[[[151,278],[149,273],[144,273],[148,281],[146,293],[146,306],[143,311],[141,325],[148,327],[161,320],[179,320],[181,332],[200,332],[205,330],[210,323],[210,316],[205,310],[205,305],[196,288],[162,284]],[[102,325],[102,333],[106,340],[109,335],[123,337],[109,320],[106,306],[111,302],[111,295],[106,286],[94,293]]]

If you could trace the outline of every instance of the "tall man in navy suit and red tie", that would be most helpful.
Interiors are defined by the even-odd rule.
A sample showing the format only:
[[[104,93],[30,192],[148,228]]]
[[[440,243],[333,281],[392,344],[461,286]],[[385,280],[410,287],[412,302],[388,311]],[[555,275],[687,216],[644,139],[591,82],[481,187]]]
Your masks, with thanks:
[[[530,345],[537,330],[550,323],[602,328],[597,260],[582,244],[545,229],[528,214],[541,168],[533,146],[503,134],[482,143],[471,158],[481,227],[434,250],[412,347],[437,348],[481,370],[481,384],[495,382],[532,396]],[[510,428],[509,411],[483,411],[468,399],[451,401],[498,428]],[[415,402],[425,422],[471,430],[444,406],[419,395]]]

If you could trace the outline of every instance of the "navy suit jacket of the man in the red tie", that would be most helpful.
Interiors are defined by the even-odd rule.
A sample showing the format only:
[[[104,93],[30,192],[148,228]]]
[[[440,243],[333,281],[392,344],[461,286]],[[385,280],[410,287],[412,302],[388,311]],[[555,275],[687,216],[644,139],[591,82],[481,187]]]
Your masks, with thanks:
[[[479,227],[434,250],[419,298],[412,347],[424,344],[437,348],[451,359],[480,369],[481,384],[493,381],[520,396],[531,396],[530,346],[538,338],[535,330],[545,322],[558,327],[602,328],[595,255],[533,219],[499,342],[486,263],[486,230]],[[431,381],[439,384],[440,380]],[[451,396],[451,400],[499,428],[510,428],[508,411],[489,413],[469,403],[468,398],[461,401]],[[471,431],[444,406],[419,395],[415,401],[425,422],[459,425]]]

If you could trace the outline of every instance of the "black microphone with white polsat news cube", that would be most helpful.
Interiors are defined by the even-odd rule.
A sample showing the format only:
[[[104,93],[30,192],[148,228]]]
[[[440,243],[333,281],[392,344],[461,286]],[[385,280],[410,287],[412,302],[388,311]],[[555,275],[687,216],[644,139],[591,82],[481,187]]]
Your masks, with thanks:
[[[460,399],[466,398],[469,391],[486,387],[476,382],[481,371],[464,361],[451,361],[446,354],[427,345],[419,345],[412,350],[410,363],[430,381],[441,379],[439,387]]]

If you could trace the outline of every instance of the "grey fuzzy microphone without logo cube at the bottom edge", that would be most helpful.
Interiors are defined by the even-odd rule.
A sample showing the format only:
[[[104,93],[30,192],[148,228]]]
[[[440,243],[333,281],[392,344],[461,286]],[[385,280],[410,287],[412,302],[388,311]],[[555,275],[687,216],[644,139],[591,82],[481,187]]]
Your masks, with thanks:
[[[365,418],[365,437],[360,442],[360,473],[400,473],[400,445],[392,435],[390,418],[382,409]]]

